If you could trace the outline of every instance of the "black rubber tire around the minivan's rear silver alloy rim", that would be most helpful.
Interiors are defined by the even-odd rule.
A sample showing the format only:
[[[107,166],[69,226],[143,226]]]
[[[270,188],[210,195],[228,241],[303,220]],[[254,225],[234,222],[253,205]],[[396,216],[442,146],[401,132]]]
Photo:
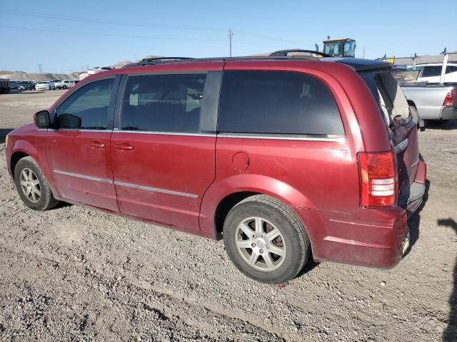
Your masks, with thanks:
[[[276,266],[276,269],[258,269],[242,256],[243,253],[248,253],[249,247],[244,247],[244,252],[238,250],[237,240],[238,234],[241,232],[238,231],[238,226],[251,217],[260,217],[267,221],[265,225],[263,223],[261,224],[262,231],[267,229],[268,224],[271,223],[281,232],[282,237],[279,241],[283,248],[286,249],[286,252],[283,260]],[[240,237],[246,237],[246,235],[242,234]],[[243,241],[246,242],[247,240]],[[261,243],[263,244],[264,241],[266,240],[262,239]],[[273,244],[273,242],[270,243]],[[266,248],[268,248],[268,242],[266,244]],[[293,279],[303,269],[311,252],[309,237],[301,220],[298,219],[296,214],[286,204],[267,195],[254,195],[243,199],[243,201],[236,204],[230,210],[224,221],[224,245],[231,261],[243,274],[266,284],[282,284]],[[255,247],[260,248],[259,246]],[[265,251],[266,249],[260,249],[260,253],[265,254]],[[251,255],[252,253],[253,249],[251,249]],[[269,252],[266,253],[271,257]],[[258,260],[257,264],[259,262],[266,264],[266,259],[263,259],[262,254],[260,254]]]

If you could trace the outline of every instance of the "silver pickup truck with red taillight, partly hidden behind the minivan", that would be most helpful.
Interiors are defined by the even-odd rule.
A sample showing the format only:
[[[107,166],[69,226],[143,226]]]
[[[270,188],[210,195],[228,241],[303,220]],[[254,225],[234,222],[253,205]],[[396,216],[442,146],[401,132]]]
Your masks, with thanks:
[[[417,111],[419,125],[426,120],[431,125],[442,125],[447,120],[457,119],[456,89],[457,83],[445,82],[448,70],[448,54],[444,55],[442,72],[439,83],[417,81],[402,81],[396,77],[401,90],[408,100],[408,104]],[[397,74],[398,76],[398,74]],[[416,75],[417,76],[417,75]]]

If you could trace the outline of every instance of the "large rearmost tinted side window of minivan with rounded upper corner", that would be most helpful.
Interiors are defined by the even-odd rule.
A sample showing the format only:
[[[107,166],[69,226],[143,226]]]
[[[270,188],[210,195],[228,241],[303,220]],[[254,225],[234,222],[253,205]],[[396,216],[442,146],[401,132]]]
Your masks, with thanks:
[[[343,135],[331,91],[287,71],[226,71],[218,130],[232,133]]]

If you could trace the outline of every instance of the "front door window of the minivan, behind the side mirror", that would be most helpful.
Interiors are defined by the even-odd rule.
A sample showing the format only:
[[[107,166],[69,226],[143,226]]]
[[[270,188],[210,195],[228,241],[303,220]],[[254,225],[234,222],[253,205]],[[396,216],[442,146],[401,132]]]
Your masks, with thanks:
[[[101,80],[77,90],[57,110],[59,128],[105,130],[114,79]]]

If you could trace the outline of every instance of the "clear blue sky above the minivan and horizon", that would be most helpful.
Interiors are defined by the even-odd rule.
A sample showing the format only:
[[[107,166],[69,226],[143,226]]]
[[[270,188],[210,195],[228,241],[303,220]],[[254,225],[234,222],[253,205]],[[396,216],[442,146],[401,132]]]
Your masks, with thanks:
[[[457,50],[456,0],[0,1],[0,70],[67,73],[146,55],[214,57],[322,48],[356,39],[356,56]]]

